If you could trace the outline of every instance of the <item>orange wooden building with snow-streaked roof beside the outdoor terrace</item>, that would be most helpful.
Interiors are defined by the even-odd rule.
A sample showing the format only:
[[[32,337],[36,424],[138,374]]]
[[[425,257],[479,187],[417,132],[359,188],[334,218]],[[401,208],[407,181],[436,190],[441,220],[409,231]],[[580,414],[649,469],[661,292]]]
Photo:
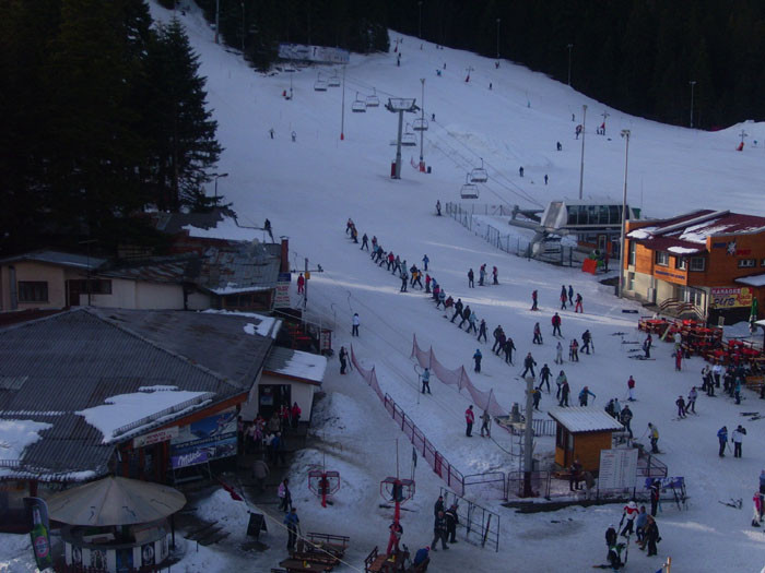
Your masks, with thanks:
[[[765,217],[701,210],[628,220],[624,296],[726,324],[765,303]]]

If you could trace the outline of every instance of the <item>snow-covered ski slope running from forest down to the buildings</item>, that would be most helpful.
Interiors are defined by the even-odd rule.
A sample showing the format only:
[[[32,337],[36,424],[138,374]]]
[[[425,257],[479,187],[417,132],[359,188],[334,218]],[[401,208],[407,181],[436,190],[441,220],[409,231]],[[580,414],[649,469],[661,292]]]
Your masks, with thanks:
[[[155,5],[152,11],[156,19],[170,16]],[[690,509],[679,512],[664,504],[659,514],[663,538],[660,556],[673,557],[673,571],[744,572],[762,568],[763,534],[750,527],[749,508],[760,469],[765,467],[764,422],[750,422],[739,411],[765,411],[765,403],[752,394],[741,406],[725,397],[699,396],[699,416],[672,421],[674,399],[701,383],[699,359],[685,362],[683,372],[675,373],[671,347],[664,343],[657,343],[656,361],[628,359],[626,349],[634,346],[622,345],[620,336],[611,334],[626,332],[625,339],[642,339],[635,330],[636,315],[622,313],[624,308],[638,309],[637,305],[619,301],[611,289],[576,270],[496,251],[452,219],[434,216],[434,205],[436,200],[443,204],[459,200],[466,171],[479,166],[481,157],[490,181],[482,187],[479,203],[541,207],[552,199],[576,198],[581,157],[574,129],[581,122],[581,106],[586,104],[586,198],[621,199],[625,142],[619,133],[629,129],[629,203],[642,206],[646,216],[670,216],[701,207],[765,215],[765,126],[746,123],[717,133],[662,126],[608,108],[507,61],[495,69],[494,60],[402,37],[400,67],[392,51],[352,55],[345,70],[341,141],[342,88],[320,93],[314,91],[314,83],[319,71],[328,79],[336,71],[342,74],[342,69],[321,67],[262,75],[237,55],[215,46],[199,13],[189,11],[181,22],[200,55],[209,104],[225,147],[219,172],[228,172],[229,177],[219,182],[219,191],[233,202],[240,222],[261,225],[268,217],[275,236],[290,237],[294,267],[302,268],[304,258],[310,260],[311,267],[321,264],[326,272],[314,273],[310,280],[311,314],[337,321],[334,347],[339,349],[352,342],[351,315],[360,313],[361,337],[353,339],[356,354],[365,365],[377,367],[382,390],[404,407],[452,464],[463,474],[515,469],[492,442],[464,438],[463,411],[469,402],[452,387],[433,380],[433,396],[416,403],[416,379],[409,358],[412,334],[416,333],[422,347],[433,345],[439,360],[449,368],[471,367],[470,357],[481,347],[483,373],[472,375],[469,368],[473,383],[481,390],[493,389],[499,403],[509,408],[513,402],[523,401],[517,377],[527,351],[533,353],[539,367],[544,362],[554,366],[550,319],[558,307],[561,285],[572,284],[584,296],[585,314],[562,312],[564,346],[585,329],[592,332],[596,346],[595,355],[584,356],[577,365],[563,366],[572,385],[572,402],[585,384],[598,396],[596,407],[604,406],[611,397],[622,399],[626,380],[633,374],[639,401],[633,407],[635,435],[644,433],[648,421],[656,423],[666,452],[662,461],[671,475],[684,476],[688,484]],[[391,38],[398,37],[391,33]],[[468,68],[473,68],[469,83],[464,81]],[[442,69],[442,76],[436,75],[436,69]],[[426,118],[436,116],[425,133],[424,147],[425,162],[433,172],[415,171],[410,160],[419,159],[419,147],[407,147],[402,179],[393,181],[389,177],[395,157],[390,141],[396,135],[397,117],[382,105],[389,96],[416,97],[421,105],[421,79],[425,79]],[[573,80],[576,85],[576,75]],[[294,97],[286,100],[282,92],[289,92],[291,85]],[[366,97],[373,88],[382,105],[365,114],[351,112],[356,92]],[[610,114],[607,135],[596,135],[604,111]],[[405,119],[411,122],[414,118]],[[739,153],[735,146],[742,128],[749,138]],[[270,129],[274,130],[273,140]],[[293,131],[295,142],[290,136]],[[758,147],[750,145],[753,140],[758,141]],[[557,141],[563,144],[561,152],[556,151]],[[525,168],[522,179],[520,166]],[[546,187],[545,174],[550,177]],[[399,294],[400,280],[373,266],[366,252],[346,238],[349,217],[360,236],[376,235],[385,250],[400,254],[409,265],[420,265],[427,253],[432,274],[447,294],[461,297],[476,310],[479,319],[486,319],[489,347],[458,332],[420,293]],[[483,263],[490,270],[493,265],[499,268],[501,285],[468,289],[468,268],[478,273]],[[537,313],[528,310],[533,289],[540,293],[541,312]],[[544,334],[541,347],[531,345],[537,321]],[[491,332],[497,324],[518,347],[515,368],[490,353]],[[556,374],[560,368],[553,370]],[[326,381],[331,402],[325,407],[329,419],[338,416],[340,421],[325,431],[331,440],[344,442],[346,451],[334,458],[328,455],[327,463],[344,468],[348,487],[341,490],[333,508],[321,510],[315,500],[305,497],[305,466],[294,469],[294,480],[301,484],[296,489],[303,496],[297,496],[297,501],[304,530],[322,530],[316,525],[321,518],[327,524],[323,529],[353,536],[354,551],[350,554],[358,558],[374,545],[385,546],[387,541],[390,512],[377,508],[376,484],[395,470],[393,440],[402,434],[379,414],[380,404],[358,377],[341,378],[338,372],[338,363],[332,360]],[[552,405],[553,398],[545,393],[542,416]],[[740,422],[749,429],[744,457],[719,458],[717,429],[728,425],[732,430]],[[509,449],[508,434],[495,428],[494,437]],[[645,437],[643,441],[647,443]],[[537,451],[549,456],[552,447],[552,441],[543,439]],[[408,451],[405,446],[402,450]],[[310,457],[306,454],[302,459]],[[319,458],[313,457],[314,462]],[[408,473],[408,463],[404,467]],[[421,461],[417,497],[410,505],[420,511],[404,516],[404,541],[410,547],[429,544],[431,508],[442,485]],[[717,503],[729,498],[743,498],[744,510]],[[593,563],[603,562],[603,532],[621,515],[620,508],[604,506],[525,516],[499,508],[496,499],[481,502],[502,514],[501,552],[461,544],[455,546],[448,559],[442,552],[435,554],[432,571],[589,570]],[[282,540],[276,538],[274,546],[281,548]],[[278,549],[272,566],[280,557]],[[221,553],[220,559],[224,561],[225,554]],[[360,563],[356,559],[355,564]],[[657,558],[649,559],[633,547],[631,571],[656,571],[658,564]]]

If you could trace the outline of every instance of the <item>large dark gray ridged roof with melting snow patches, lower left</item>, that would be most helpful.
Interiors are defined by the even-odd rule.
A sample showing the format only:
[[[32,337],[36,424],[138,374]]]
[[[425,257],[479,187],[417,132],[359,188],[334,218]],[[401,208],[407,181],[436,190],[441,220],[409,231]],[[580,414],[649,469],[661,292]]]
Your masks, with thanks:
[[[192,312],[78,309],[0,330],[0,377],[27,377],[0,390],[0,418],[52,428],[26,447],[11,476],[55,480],[106,473],[114,445],[75,411],[140,386],[212,392],[214,402],[247,392],[269,337],[246,334],[252,318]],[[51,415],[55,413],[55,415]],[[149,429],[150,427],[148,427]]]

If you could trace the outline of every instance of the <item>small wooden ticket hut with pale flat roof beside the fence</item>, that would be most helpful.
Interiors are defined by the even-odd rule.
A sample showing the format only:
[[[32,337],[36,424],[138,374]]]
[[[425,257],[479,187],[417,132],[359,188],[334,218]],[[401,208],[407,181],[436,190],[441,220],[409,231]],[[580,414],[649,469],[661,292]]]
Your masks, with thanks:
[[[622,423],[599,408],[554,408],[555,463],[567,468],[579,458],[584,471],[600,469],[600,451],[611,450],[611,433],[624,429]]]

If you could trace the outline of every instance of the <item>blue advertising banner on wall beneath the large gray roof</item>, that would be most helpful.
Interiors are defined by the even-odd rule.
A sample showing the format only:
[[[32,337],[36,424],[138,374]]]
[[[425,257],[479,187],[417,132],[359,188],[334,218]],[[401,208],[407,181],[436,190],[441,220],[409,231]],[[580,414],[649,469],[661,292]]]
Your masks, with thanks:
[[[183,426],[170,440],[173,468],[203,464],[236,455],[236,409]]]

